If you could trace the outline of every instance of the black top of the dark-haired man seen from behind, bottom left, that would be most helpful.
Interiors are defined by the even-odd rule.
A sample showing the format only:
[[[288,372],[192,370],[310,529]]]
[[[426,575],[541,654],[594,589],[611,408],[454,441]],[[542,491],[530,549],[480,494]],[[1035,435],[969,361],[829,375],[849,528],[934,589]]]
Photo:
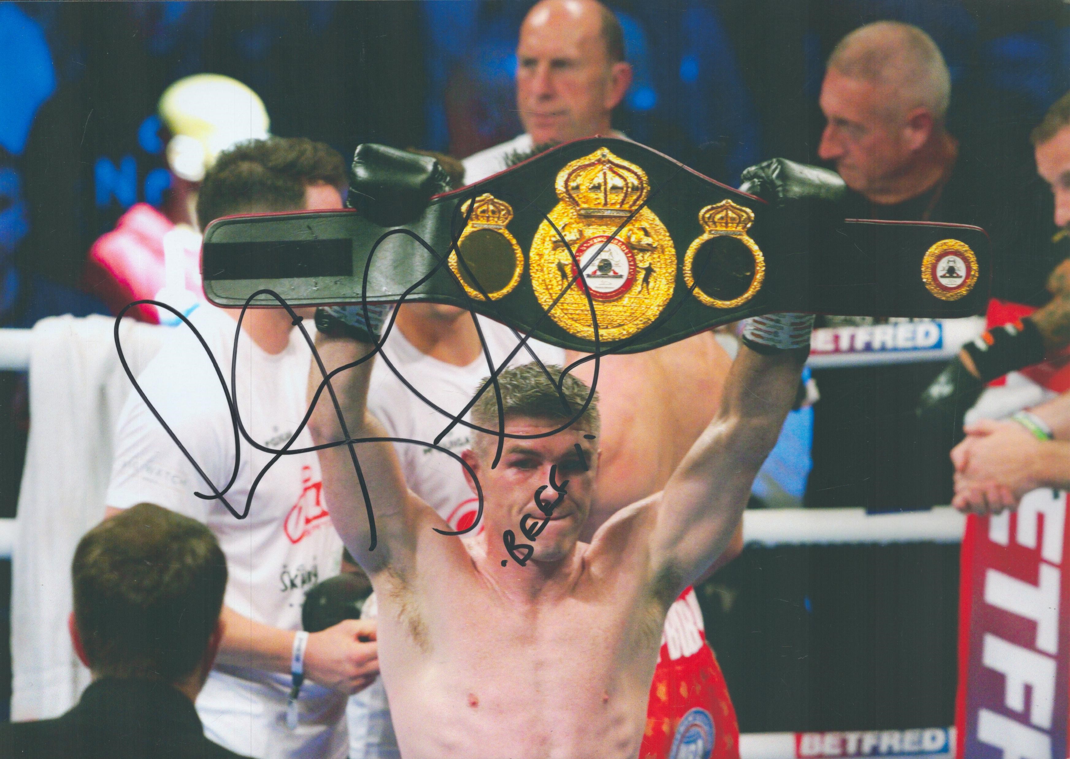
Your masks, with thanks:
[[[0,726],[0,757],[241,759],[204,738],[194,704],[148,680],[97,680],[56,719]]]

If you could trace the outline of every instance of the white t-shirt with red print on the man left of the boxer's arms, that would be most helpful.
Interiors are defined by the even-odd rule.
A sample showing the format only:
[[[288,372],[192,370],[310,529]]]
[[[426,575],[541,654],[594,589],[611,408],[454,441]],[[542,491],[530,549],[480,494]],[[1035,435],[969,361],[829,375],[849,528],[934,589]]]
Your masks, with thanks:
[[[230,385],[236,322],[203,304],[189,317]],[[245,332],[239,339],[236,406],[242,423],[259,444],[281,447],[305,414],[305,386],[311,361],[300,331],[275,355],[257,347]],[[234,428],[215,370],[185,327],[160,349],[138,378],[153,406],[204,473],[221,489],[234,466]],[[307,447],[303,430],[291,447]],[[239,513],[256,476],[272,454],[255,451],[242,438],[241,459],[227,501]],[[257,485],[248,516],[236,519],[218,500],[197,498],[212,489],[189,464],[136,393],[119,419],[107,504],[127,508],[150,502],[193,517],[212,530],[227,557],[229,580],[224,603],[238,613],[282,629],[301,629],[305,593],[338,574],[342,544],[331,523],[315,453],[282,456]],[[325,757],[348,754],[346,697],[316,683],[301,692],[300,720],[286,726],[290,677],[245,667],[216,665],[197,699],[204,734],[227,748],[257,759]]]

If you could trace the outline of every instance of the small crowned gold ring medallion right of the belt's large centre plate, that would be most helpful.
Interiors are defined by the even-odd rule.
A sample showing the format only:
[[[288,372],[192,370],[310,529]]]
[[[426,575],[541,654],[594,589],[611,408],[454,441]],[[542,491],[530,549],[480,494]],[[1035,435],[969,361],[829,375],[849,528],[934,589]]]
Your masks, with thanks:
[[[705,231],[684,256],[684,282],[699,301],[714,308],[735,308],[754,297],[765,282],[765,256],[747,230],[750,209],[722,200],[699,212]],[[700,261],[696,263],[696,259]],[[699,285],[696,284],[698,271]]]

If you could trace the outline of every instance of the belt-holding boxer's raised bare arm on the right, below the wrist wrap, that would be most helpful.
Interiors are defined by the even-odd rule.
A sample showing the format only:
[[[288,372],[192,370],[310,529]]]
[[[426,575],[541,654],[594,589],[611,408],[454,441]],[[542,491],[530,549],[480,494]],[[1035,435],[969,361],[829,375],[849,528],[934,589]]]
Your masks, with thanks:
[[[656,502],[653,571],[675,592],[731,545],[754,476],[795,401],[802,365],[791,351],[740,347],[718,414]]]

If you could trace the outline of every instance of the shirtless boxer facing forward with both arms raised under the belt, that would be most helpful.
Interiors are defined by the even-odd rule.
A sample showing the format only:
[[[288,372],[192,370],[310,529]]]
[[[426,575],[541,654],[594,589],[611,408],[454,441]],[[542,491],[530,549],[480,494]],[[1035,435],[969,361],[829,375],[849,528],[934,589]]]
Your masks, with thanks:
[[[358,306],[318,312],[326,334],[317,347],[328,370],[370,350],[378,324],[363,320]],[[578,536],[598,469],[594,404],[555,435],[507,439],[495,469],[488,436],[465,452],[485,497],[486,552],[470,553],[434,532],[446,522],[408,491],[387,443],[356,447],[378,530],[369,550],[350,453],[345,445],[320,451],[334,523],[380,599],[381,671],[403,756],[638,754],[666,611],[731,542],[795,398],[811,322],[797,315],[752,320],[717,416],[664,489],[609,519],[590,544]],[[366,412],[371,363],[334,379],[352,438],[383,436]],[[507,434],[560,426],[556,391],[539,370],[519,367],[499,379]],[[314,371],[310,395],[320,381]],[[587,394],[575,378],[564,391],[574,408]],[[493,395],[485,394],[473,419],[496,425]],[[328,400],[317,404],[309,427],[317,444],[345,439]],[[551,485],[553,466],[557,482],[569,480],[567,494],[521,566],[491,536],[539,515],[533,495]]]

